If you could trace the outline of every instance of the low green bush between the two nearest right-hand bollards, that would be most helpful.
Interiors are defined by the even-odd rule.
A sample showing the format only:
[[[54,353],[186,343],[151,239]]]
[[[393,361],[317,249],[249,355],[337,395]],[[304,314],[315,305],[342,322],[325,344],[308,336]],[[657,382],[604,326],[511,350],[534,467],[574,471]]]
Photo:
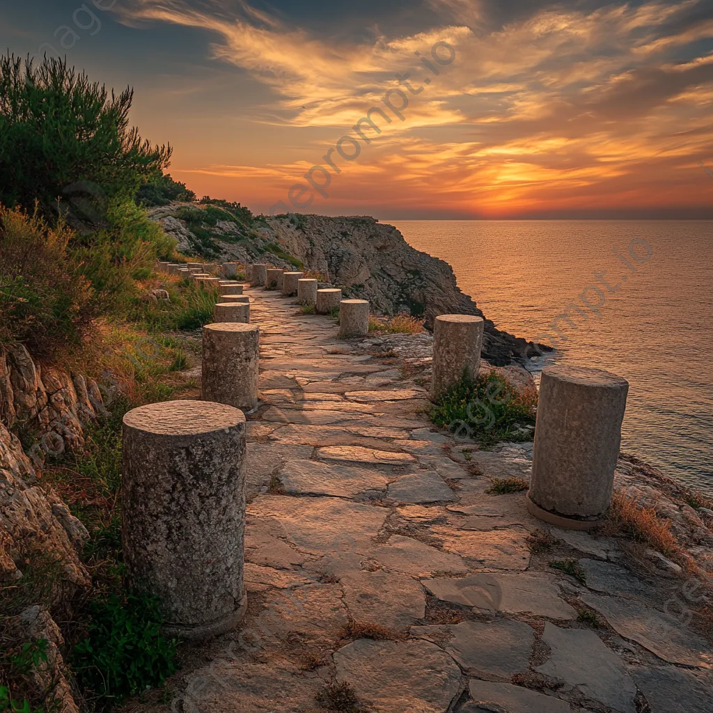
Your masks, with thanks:
[[[498,374],[463,379],[443,394],[431,411],[437,426],[467,435],[491,446],[500,441],[533,438],[537,391],[524,393]]]

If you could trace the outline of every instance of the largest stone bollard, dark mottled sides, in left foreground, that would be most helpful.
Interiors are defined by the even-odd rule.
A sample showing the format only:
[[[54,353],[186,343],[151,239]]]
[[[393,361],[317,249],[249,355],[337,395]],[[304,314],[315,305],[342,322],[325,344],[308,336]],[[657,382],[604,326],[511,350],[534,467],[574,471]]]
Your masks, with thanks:
[[[158,595],[166,629],[193,640],[245,614],[245,416],[205,401],[123,419],[122,540],[130,587]]]

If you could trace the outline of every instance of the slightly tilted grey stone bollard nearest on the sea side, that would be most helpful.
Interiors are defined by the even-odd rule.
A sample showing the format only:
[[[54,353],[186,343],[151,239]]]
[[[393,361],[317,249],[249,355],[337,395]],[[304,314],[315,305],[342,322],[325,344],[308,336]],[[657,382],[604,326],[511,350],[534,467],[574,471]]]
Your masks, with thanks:
[[[528,511],[586,530],[609,507],[629,384],[600,369],[548,366],[540,381]]]

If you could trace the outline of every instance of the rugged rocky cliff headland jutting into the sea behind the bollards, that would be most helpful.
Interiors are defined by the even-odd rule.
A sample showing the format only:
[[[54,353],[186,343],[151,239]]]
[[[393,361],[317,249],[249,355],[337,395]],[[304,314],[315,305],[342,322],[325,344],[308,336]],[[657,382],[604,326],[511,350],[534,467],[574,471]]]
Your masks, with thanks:
[[[165,232],[178,240],[179,250],[195,249],[190,226],[176,217],[187,206],[177,203],[149,211]],[[496,366],[523,364],[535,345],[498,329],[485,317],[473,297],[456,281],[444,260],[411,247],[393,225],[370,216],[289,215],[260,216],[252,235],[237,240],[238,227],[218,222],[212,235],[220,260],[270,262],[277,267],[321,273],[324,283],[342,287],[344,297],[368,299],[376,313],[407,312],[425,319],[431,329],[438,314],[473,314],[485,319],[483,358]],[[207,230],[209,225],[205,225]],[[549,347],[540,346],[543,351]]]

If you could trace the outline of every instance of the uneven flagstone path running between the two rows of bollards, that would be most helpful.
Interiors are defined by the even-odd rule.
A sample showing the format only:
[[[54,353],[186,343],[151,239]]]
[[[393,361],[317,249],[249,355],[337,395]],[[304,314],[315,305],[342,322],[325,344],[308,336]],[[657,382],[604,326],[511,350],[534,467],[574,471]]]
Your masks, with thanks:
[[[713,711],[709,642],[664,613],[684,580],[534,520],[523,493],[486,493],[528,476],[530,444],[454,441],[398,360],[275,292],[246,294],[261,330],[250,604],[240,631],[186,653],[174,710],[324,712],[336,683],[376,713]],[[531,552],[535,530],[555,545]],[[578,560],[580,577],[553,560]]]

